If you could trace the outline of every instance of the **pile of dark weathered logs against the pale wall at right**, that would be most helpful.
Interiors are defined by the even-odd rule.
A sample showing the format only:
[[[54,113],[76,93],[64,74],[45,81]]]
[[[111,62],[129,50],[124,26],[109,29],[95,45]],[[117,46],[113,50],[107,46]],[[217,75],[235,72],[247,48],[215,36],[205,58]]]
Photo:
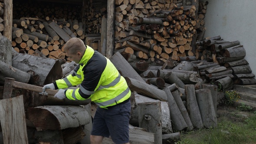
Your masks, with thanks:
[[[202,79],[220,83],[221,89],[233,89],[234,84],[256,84],[255,75],[244,59],[246,51],[238,40],[229,42],[215,36],[198,41],[197,46],[207,60],[207,65],[195,67]]]

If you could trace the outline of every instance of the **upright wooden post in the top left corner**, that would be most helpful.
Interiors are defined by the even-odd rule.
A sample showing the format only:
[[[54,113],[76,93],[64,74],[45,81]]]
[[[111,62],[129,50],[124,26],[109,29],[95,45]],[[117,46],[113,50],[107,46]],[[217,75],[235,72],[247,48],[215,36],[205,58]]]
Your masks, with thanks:
[[[13,0],[3,0],[3,36],[12,41],[12,26],[13,26]]]

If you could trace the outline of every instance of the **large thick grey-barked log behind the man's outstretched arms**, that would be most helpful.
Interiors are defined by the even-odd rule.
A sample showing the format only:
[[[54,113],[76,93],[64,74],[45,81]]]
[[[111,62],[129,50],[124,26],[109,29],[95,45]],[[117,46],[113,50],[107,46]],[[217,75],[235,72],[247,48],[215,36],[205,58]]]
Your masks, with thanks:
[[[45,85],[62,78],[59,60],[17,53],[13,67],[31,75],[30,84]]]

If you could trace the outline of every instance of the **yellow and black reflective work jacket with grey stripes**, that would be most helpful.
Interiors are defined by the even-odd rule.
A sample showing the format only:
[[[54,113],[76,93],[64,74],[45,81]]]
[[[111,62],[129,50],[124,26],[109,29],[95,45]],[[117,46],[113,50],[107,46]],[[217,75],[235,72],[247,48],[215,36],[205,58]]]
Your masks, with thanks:
[[[68,89],[65,94],[70,100],[91,98],[101,108],[116,105],[130,98],[131,91],[112,62],[91,47],[86,46],[85,54],[66,78],[56,80],[55,86],[68,88],[80,85],[77,89]]]

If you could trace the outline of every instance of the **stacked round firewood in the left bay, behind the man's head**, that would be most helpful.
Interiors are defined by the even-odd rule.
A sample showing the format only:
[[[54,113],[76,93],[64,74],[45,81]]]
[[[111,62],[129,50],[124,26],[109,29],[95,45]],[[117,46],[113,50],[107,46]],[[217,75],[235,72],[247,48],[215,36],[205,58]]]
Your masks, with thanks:
[[[72,37],[85,39],[79,6],[14,3],[12,46],[17,52],[53,59],[66,59],[65,43]],[[81,7],[80,7],[81,9]]]

